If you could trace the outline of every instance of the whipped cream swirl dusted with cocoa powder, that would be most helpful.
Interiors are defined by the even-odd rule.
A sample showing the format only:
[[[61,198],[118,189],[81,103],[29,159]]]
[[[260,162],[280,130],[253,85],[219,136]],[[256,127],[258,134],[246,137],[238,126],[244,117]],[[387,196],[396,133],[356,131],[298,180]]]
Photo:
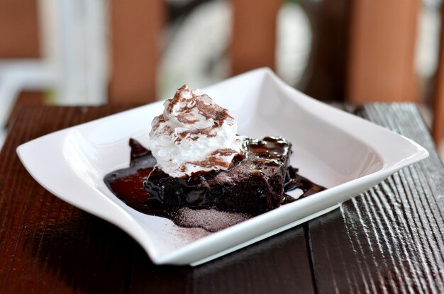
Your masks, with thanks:
[[[170,176],[228,169],[243,154],[244,137],[228,110],[199,89],[179,88],[152,120],[150,149],[157,166]]]

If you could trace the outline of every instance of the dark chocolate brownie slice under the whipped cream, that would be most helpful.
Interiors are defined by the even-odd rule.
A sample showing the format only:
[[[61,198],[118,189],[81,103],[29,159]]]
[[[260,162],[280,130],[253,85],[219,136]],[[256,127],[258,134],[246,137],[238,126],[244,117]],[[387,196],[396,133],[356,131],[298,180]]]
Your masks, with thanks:
[[[282,137],[247,139],[246,152],[232,169],[172,178],[160,169],[143,183],[150,204],[165,208],[216,208],[257,215],[279,207],[291,143]]]

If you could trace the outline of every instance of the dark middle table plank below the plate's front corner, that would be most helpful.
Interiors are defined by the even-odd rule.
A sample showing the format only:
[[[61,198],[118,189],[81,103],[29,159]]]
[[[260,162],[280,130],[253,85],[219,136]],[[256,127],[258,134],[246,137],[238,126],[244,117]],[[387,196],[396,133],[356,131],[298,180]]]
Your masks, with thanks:
[[[302,226],[195,268],[152,266],[142,251],[134,264],[134,293],[314,293]]]

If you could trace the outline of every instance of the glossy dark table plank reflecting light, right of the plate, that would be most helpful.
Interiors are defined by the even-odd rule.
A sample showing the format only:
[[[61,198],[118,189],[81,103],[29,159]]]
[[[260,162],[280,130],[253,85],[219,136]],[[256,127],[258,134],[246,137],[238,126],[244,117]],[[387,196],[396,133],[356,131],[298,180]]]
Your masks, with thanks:
[[[414,104],[355,112],[431,156],[309,222],[318,293],[443,293],[444,169],[431,135]]]

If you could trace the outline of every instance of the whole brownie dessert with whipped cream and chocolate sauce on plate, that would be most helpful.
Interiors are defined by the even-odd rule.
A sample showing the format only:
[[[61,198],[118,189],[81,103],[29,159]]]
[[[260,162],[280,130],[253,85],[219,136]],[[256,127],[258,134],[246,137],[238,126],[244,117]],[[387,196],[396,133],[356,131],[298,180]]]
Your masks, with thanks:
[[[290,142],[238,135],[228,110],[202,91],[184,85],[164,106],[152,120],[150,149],[131,139],[130,167],[104,179],[131,207],[214,231],[225,226],[205,219],[225,217],[229,226],[295,200],[286,191],[323,190],[289,166]]]

